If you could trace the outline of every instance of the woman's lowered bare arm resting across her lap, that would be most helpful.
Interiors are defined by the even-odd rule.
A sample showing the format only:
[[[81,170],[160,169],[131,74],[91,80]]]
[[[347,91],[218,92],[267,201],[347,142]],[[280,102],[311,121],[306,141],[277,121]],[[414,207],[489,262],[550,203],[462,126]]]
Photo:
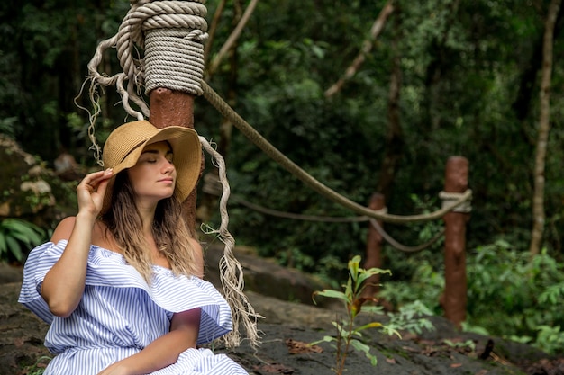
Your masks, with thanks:
[[[115,362],[98,375],[146,374],[177,362],[180,353],[188,348],[196,348],[200,314],[200,308],[175,314],[167,335],[160,336],[141,352]]]

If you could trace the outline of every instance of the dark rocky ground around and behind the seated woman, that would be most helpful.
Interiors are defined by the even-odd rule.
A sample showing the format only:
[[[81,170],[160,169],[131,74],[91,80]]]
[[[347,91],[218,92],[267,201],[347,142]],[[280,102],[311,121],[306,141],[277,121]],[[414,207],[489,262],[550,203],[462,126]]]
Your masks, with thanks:
[[[209,256],[211,259],[212,255]],[[308,288],[318,287],[307,287],[306,275],[250,254],[238,254],[238,259],[246,274],[252,276],[250,284],[287,285],[292,300],[298,301],[288,302],[279,295],[269,297],[264,295],[265,290],[261,293],[248,291],[251,304],[265,317],[259,322],[262,344],[253,349],[243,342],[230,350],[218,345],[214,350],[227,353],[253,375],[333,374],[335,349],[323,343],[312,351],[305,344],[320,340],[324,335],[334,335],[331,322],[341,308],[319,308],[299,302],[300,296],[311,295]],[[17,303],[21,268],[0,264],[0,285],[0,375],[32,374],[38,360],[40,367],[49,361],[45,357],[50,353],[42,346],[48,326]],[[371,318],[374,317],[361,316],[359,323]],[[550,358],[531,346],[496,337],[460,333],[442,317],[432,317],[432,323],[433,331],[422,335],[403,333],[402,339],[379,334],[376,330],[364,331],[365,343],[370,345],[371,353],[376,354],[378,364],[374,367],[363,353],[350,351],[344,373],[564,375],[563,358]]]

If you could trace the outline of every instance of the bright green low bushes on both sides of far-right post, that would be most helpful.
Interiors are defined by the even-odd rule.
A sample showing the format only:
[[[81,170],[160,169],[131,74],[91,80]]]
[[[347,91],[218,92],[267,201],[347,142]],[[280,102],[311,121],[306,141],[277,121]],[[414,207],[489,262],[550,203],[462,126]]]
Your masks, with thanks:
[[[380,298],[402,306],[414,299],[441,314],[441,266],[432,254],[410,257],[412,276],[383,281]],[[504,240],[478,246],[468,256],[468,316],[465,329],[532,343],[548,353],[564,353],[564,270],[548,254],[532,261]],[[389,280],[389,279],[388,279]]]

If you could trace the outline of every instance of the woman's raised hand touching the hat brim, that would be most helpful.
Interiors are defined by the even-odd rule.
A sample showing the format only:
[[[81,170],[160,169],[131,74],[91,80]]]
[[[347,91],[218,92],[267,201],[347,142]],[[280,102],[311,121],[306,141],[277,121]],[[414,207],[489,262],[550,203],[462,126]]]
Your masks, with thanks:
[[[77,186],[78,212],[87,212],[96,217],[104,203],[108,180],[114,175],[112,169],[86,174]]]

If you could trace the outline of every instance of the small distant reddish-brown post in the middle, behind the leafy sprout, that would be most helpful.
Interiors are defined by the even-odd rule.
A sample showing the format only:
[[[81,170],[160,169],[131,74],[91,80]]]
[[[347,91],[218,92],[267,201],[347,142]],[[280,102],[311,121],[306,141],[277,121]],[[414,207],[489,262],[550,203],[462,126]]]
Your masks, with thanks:
[[[382,210],[386,207],[386,200],[383,194],[375,192],[370,198],[368,208],[370,210]],[[378,220],[380,227],[382,220]],[[382,242],[384,238],[378,233],[372,224],[368,224],[368,236],[366,244],[366,256],[364,259],[364,269],[368,270],[372,267],[382,267]],[[378,282],[380,281],[379,275],[374,275],[368,278],[367,286],[363,291],[363,297],[367,299],[373,298],[378,293]]]

